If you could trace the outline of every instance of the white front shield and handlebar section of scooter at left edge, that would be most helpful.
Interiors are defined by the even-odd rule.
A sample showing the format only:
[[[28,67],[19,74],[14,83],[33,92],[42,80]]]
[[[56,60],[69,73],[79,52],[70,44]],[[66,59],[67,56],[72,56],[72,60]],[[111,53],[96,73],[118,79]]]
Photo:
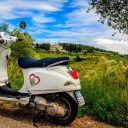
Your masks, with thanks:
[[[11,54],[10,46],[16,42],[17,37],[10,36],[6,32],[0,32],[0,86],[8,81],[7,61]]]

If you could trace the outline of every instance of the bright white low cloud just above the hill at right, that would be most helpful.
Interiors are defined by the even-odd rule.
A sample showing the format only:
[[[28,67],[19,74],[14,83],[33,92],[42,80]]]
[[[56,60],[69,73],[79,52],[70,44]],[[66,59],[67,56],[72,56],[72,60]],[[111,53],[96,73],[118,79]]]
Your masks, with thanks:
[[[109,51],[115,51],[120,54],[128,54],[128,42],[121,40],[110,40],[98,38],[95,39],[93,45],[98,48],[102,48]]]

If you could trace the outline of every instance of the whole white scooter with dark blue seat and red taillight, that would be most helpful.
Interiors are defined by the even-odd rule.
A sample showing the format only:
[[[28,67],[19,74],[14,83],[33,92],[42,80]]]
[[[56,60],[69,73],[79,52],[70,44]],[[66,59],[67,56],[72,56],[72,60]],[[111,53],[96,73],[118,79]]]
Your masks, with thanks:
[[[26,23],[20,22],[20,28]],[[19,58],[24,84],[19,91],[11,88],[7,76],[10,46],[19,39],[0,32],[0,100],[18,102],[46,112],[54,123],[67,125],[77,116],[78,105],[84,105],[77,71],[69,67],[68,57]]]

